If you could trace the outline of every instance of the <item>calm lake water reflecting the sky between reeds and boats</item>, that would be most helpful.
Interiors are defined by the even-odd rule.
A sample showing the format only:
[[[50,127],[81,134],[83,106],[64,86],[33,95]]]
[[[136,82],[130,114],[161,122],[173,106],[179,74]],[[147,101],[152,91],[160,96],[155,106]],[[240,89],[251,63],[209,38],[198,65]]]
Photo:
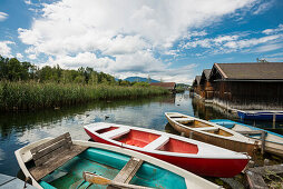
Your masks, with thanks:
[[[59,110],[38,110],[0,115],[0,173],[17,176],[19,167],[13,151],[46,137],[70,132],[74,139],[88,140],[82,126],[91,122],[114,122],[174,132],[164,116],[178,111],[202,119],[237,118],[223,109],[205,106],[191,99],[187,92],[152,99],[99,101]],[[272,128],[271,122],[248,122],[282,132],[283,123]]]

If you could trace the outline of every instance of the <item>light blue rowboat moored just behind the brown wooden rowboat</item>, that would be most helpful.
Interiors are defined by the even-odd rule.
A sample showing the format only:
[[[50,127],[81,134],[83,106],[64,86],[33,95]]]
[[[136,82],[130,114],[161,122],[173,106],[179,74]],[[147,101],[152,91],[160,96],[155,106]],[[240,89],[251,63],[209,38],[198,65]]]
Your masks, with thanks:
[[[241,122],[227,120],[227,119],[214,119],[209,121],[221,125],[223,127],[226,127],[228,129],[232,129],[236,132],[243,133],[247,131],[246,132],[247,137],[255,139],[257,141],[262,140],[261,132],[250,132],[250,131],[263,131],[265,137],[264,150],[283,157],[283,136],[282,135],[279,135],[269,130],[260,129],[256,127],[252,127],[248,125],[244,125]]]

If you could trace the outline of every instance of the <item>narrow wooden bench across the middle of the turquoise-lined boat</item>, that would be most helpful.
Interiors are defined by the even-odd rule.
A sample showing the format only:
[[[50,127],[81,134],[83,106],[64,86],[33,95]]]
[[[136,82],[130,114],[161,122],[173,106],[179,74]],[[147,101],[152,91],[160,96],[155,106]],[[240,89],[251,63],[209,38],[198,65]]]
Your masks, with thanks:
[[[124,166],[124,168],[119,171],[119,173],[114,178],[113,181],[129,183],[133,177],[138,171],[139,167],[143,165],[142,159],[137,159],[131,157],[130,160]],[[107,189],[114,189],[116,187],[108,186]]]

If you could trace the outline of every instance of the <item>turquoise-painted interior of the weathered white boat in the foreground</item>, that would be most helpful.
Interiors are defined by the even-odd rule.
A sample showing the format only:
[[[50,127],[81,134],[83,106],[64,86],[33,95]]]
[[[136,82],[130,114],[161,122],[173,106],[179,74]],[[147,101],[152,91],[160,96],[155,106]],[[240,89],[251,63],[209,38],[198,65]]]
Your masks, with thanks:
[[[48,147],[47,150],[40,150],[39,153],[42,155],[43,151],[43,153],[48,156],[50,150],[57,147],[57,155],[56,157],[51,158],[51,160],[47,160],[45,158],[46,156],[41,157],[42,159],[47,160],[45,165],[48,163],[48,167],[56,167],[56,169],[50,170],[45,168],[42,165],[37,166],[35,163],[37,155],[33,155],[32,160],[26,163],[29,170],[39,168],[38,170],[43,172],[42,178],[38,177],[37,179],[42,188],[82,189],[108,187],[87,182],[82,178],[84,171],[92,172],[110,180],[144,187],[163,188],[166,186],[166,188],[175,188],[175,183],[178,182],[178,187],[186,188],[185,179],[176,173],[170,172],[169,170],[148,163],[138,158],[99,148],[90,147],[79,155],[71,157],[71,159],[67,160],[61,166],[58,166],[58,161],[60,161],[60,159],[58,159],[58,149],[60,151],[59,153],[64,153],[61,151],[65,150],[61,150],[62,146],[58,145],[58,142],[52,141],[51,143],[57,145],[52,145],[51,148]],[[66,142],[62,142],[62,140],[59,141],[59,143],[66,145]],[[127,175],[127,177],[125,177],[125,175]]]

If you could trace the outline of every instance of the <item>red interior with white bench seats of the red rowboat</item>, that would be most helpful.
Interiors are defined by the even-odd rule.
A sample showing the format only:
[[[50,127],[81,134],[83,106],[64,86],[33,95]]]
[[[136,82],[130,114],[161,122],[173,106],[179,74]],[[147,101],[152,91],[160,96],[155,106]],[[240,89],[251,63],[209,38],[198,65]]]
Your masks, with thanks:
[[[107,129],[97,130],[96,132],[121,143],[144,148],[146,150],[160,150],[179,153],[198,152],[198,148],[194,143],[135,129],[109,127]]]

